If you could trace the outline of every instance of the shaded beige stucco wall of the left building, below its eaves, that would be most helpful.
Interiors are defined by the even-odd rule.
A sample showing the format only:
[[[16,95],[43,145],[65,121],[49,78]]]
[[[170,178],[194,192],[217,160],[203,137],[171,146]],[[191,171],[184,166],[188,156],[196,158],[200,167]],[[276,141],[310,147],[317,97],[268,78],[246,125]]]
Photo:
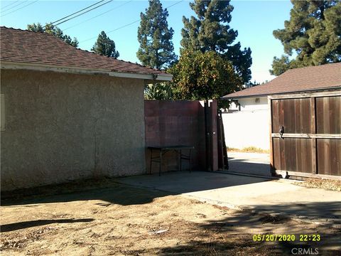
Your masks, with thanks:
[[[1,189],[145,171],[144,81],[1,70]]]

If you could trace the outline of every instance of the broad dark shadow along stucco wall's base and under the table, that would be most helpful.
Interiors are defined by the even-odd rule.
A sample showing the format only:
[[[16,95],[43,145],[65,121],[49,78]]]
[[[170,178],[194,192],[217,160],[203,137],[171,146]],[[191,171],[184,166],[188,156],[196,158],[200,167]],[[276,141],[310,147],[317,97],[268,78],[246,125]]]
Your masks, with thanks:
[[[205,191],[229,186],[241,186],[251,183],[270,181],[268,178],[254,178],[227,174],[208,173],[205,171],[172,171],[162,174],[129,176],[125,178],[104,178],[96,180],[75,181],[53,186],[20,189],[1,192],[2,206],[16,206],[32,203],[58,203],[69,201],[102,200],[122,206],[150,203],[154,198]],[[131,186],[120,184],[121,181],[134,181]],[[146,186],[144,183],[158,184],[160,188]],[[190,186],[189,183],[190,182]],[[129,182],[128,182],[129,184]],[[136,188],[139,186],[140,188]],[[173,191],[172,186],[176,187]],[[164,188],[164,189],[163,189]],[[150,190],[153,193],[150,193]]]

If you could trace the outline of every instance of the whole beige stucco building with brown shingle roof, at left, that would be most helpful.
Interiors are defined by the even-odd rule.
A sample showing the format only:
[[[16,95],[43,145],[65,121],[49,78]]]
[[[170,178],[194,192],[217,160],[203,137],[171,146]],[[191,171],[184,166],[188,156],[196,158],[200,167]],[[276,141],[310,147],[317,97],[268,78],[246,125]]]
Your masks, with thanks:
[[[171,75],[0,31],[2,191],[144,173],[144,86]]]

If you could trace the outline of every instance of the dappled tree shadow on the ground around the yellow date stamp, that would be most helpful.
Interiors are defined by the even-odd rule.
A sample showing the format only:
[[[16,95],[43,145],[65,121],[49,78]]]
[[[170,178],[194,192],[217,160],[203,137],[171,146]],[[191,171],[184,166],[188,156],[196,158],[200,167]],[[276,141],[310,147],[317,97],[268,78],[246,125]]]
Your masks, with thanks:
[[[330,202],[332,208],[340,209],[340,202]],[[309,203],[301,206],[278,205],[304,212],[306,208],[323,208],[325,203]],[[256,207],[263,210],[267,206]],[[340,218],[340,215],[333,216]],[[268,215],[241,211],[219,221],[209,220],[205,224],[193,225],[192,238],[173,247],[159,248],[159,255],[293,255],[298,250],[305,255],[341,255],[340,228],[317,227],[312,224],[298,225],[287,215]],[[286,236],[285,241],[274,241],[275,236]],[[261,241],[255,241],[254,235],[261,234]],[[263,241],[266,238],[273,241]],[[266,236],[268,235],[268,236]],[[293,236],[294,235],[294,238]],[[305,236],[306,235],[306,236]],[[256,238],[257,239],[257,238]],[[290,238],[289,238],[290,239]],[[318,252],[318,253],[316,253]],[[302,253],[301,253],[302,254]]]

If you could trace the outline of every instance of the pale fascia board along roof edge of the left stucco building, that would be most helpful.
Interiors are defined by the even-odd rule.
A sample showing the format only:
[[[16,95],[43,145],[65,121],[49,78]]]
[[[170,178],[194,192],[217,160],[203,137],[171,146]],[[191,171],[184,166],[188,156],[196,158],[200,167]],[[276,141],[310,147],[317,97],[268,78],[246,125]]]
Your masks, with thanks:
[[[72,68],[67,66],[57,65],[41,65],[35,63],[14,63],[8,61],[1,61],[1,69],[11,70],[36,70],[36,71],[53,71],[58,73],[73,73],[73,74],[87,74],[87,75],[109,75],[116,78],[136,78],[144,80],[158,80],[171,81],[172,75],[153,75],[153,74],[139,74],[139,73],[123,73],[112,70],[94,70],[90,68]]]

